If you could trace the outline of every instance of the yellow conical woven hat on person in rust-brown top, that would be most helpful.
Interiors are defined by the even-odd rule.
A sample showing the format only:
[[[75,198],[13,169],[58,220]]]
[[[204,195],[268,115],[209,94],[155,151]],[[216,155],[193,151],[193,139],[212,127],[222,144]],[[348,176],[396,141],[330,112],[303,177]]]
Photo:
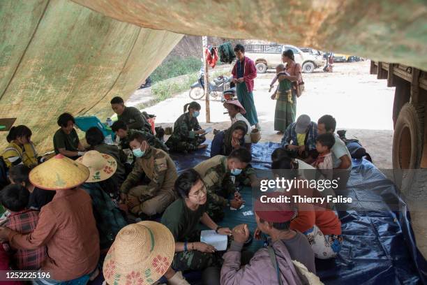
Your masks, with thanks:
[[[87,177],[89,169],[86,166],[62,154],[39,164],[29,174],[31,184],[46,190],[72,189],[84,183]]]

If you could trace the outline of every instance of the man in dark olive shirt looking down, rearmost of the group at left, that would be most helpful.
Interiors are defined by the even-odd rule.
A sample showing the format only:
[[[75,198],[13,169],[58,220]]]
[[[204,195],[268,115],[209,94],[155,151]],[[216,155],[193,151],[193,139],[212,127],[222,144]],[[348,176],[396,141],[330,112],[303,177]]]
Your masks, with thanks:
[[[153,133],[147,118],[135,107],[126,107],[123,98],[117,96],[110,101],[112,110],[120,121],[125,122],[128,129]]]

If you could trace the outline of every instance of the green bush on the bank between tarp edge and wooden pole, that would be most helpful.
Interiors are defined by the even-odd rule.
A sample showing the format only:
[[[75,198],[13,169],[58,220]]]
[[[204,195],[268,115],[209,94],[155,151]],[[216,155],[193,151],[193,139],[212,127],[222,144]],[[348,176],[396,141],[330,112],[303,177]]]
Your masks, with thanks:
[[[181,75],[186,75],[199,71],[202,66],[202,61],[197,57],[170,57],[163,61],[160,66],[151,73],[150,78],[152,82],[160,82]]]

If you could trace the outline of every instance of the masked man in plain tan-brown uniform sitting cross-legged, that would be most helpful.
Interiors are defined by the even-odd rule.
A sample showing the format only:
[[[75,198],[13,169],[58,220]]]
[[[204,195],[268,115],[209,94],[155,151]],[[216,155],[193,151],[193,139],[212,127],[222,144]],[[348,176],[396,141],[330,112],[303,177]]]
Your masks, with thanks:
[[[134,154],[135,149],[144,151],[141,157],[137,157],[132,172],[121,184],[122,200],[133,214],[148,217],[160,214],[177,198],[174,191],[174,182],[177,180],[175,163],[163,150],[150,147],[147,138],[141,133],[130,136],[130,144],[139,145],[133,148]],[[137,186],[141,182],[145,183]]]

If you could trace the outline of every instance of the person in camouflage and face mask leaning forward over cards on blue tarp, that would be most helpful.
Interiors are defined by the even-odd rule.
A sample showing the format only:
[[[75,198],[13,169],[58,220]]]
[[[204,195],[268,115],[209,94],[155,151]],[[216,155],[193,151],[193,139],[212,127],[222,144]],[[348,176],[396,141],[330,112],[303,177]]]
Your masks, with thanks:
[[[207,188],[209,203],[207,213],[213,221],[224,218],[224,207],[231,206],[239,209],[243,204],[240,193],[234,185],[235,176],[246,168],[251,160],[247,149],[234,149],[230,156],[217,155],[202,161],[195,166]],[[240,172],[239,172],[240,171]],[[234,194],[233,199],[229,199]]]

